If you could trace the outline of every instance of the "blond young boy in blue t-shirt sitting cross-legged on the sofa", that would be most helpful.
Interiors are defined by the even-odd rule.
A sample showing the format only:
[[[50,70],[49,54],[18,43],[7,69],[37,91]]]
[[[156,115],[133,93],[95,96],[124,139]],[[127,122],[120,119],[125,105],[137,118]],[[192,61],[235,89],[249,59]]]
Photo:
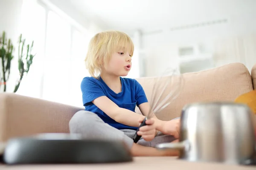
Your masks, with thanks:
[[[157,150],[154,146],[179,137],[179,118],[161,121],[154,116],[140,127],[137,134],[142,138],[138,143],[132,139],[150,111],[142,86],[134,79],[121,77],[131,70],[133,52],[134,44],[123,32],[101,32],[91,39],[85,58],[91,77],[81,82],[85,110],[71,118],[70,133],[123,140],[133,156],[177,156],[177,151]],[[143,115],[135,112],[136,105]]]

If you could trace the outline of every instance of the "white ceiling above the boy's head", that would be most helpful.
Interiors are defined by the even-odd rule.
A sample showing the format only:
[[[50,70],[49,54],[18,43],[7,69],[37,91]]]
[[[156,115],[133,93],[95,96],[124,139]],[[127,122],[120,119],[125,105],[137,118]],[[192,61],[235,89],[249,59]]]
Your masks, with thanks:
[[[256,0],[70,0],[103,29],[143,33],[255,13]]]

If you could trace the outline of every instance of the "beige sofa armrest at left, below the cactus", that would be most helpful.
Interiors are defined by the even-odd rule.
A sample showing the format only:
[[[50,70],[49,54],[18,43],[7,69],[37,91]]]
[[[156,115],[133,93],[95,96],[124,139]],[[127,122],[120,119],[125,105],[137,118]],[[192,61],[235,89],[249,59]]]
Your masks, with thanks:
[[[0,142],[36,133],[69,133],[70,118],[81,109],[15,93],[0,93]]]

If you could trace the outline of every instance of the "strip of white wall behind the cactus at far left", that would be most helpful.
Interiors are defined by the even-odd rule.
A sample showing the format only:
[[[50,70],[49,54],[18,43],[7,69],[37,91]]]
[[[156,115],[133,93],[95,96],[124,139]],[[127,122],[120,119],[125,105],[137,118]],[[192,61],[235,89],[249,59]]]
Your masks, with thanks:
[[[20,14],[23,0],[0,0],[0,33],[6,32],[6,37],[12,40],[15,46],[15,58],[12,61],[11,74],[7,84],[7,92],[13,92],[19,72],[17,68],[17,40],[20,35]],[[0,62],[2,64],[2,62]],[[0,69],[2,69],[0,64]],[[2,72],[1,72],[2,74]],[[0,92],[3,91],[1,86]]]

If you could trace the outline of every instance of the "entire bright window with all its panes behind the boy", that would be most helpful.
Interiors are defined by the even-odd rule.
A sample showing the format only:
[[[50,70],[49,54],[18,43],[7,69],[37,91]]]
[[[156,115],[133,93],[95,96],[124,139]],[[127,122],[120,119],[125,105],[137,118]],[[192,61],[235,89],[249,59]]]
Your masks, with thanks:
[[[35,41],[31,70],[17,94],[82,106],[80,83],[88,76],[84,58],[90,35],[33,0],[23,3],[22,33]]]

